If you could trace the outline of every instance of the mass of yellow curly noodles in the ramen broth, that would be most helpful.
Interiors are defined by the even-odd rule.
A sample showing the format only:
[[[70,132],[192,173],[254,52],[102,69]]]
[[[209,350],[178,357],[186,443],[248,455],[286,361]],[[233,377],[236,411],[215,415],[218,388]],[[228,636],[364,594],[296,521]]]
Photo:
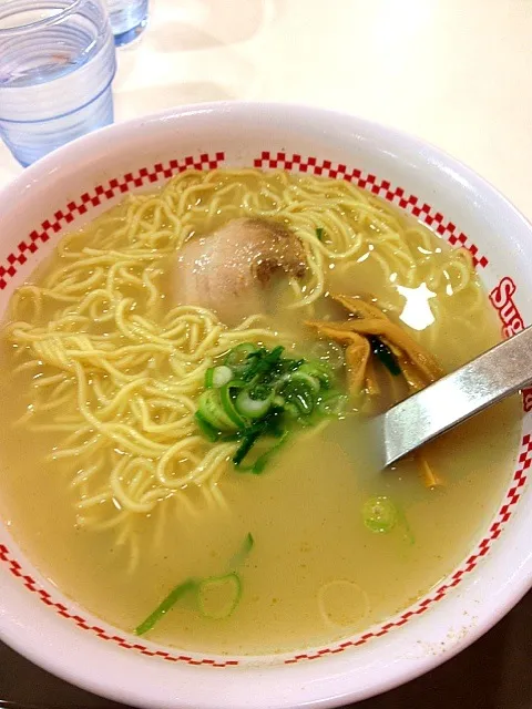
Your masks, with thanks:
[[[183,244],[245,215],[280,219],[300,238],[308,269],[290,282],[289,307],[306,316],[335,268],[346,277],[369,256],[383,281],[426,282],[438,294],[430,307],[439,321],[456,318],[446,294],[463,291],[466,321],[484,305],[467,251],[434,247],[427,229],[340,181],[184,172],[64,237],[39,284],[12,297],[7,338],[14,374],[30,384],[17,425],[53,434],[50,456],[78,494],[78,523],[115,527],[117,543],[131,543],[132,567],[139,516],[157,512],[160,538],[174,510],[198,514],[202,500],[224,505],[219,482],[236,444],[211,443],[196,429],[205,370],[238,342],[283,341],[258,314],[229,329],[214,312],[168,304],[165,277]],[[397,302],[382,306],[399,314]]]

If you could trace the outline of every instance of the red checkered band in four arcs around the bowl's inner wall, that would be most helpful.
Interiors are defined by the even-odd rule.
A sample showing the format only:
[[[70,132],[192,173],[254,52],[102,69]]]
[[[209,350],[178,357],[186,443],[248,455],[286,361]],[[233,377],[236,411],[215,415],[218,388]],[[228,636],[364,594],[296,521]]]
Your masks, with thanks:
[[[219,167],[225,161],[224,153],[216,153],[214,156],[202,154],[198,157],[188,156],[181,161],[172,160],[167,164],[157,163],[151,169],[145,167],[136,173],[127,173],[120,179],[111,179],[106,185],[98,185],[92,193],[83,194],[78,202],[69,203],[62,210],[57,212],[52,219],[47,219],[41,227],[32,232],[25,242],[19,244],[18,253],[10,254],[7,264],[0,266],[0,289],[7,287],[9,278],[17,273],[17,264],[22,265],[27,261],[25,251],[35,253],[39,244],[45,243],[54,234],[59,234],[63,228],[71,224],[76,215],[83,215],[88,209],[101,205],[106,199],[126,194],[135,187],[142,187],[150,183],[157,183],[163,178],[170,178],[184,169],[213,169]],[[299,171],[317,175],[325,175],[334,178],[342,178],[355,182],[357,186],[369,189],[372,194],[379,195],[389,202],[397,204],[400,208],[407,209],[412,215],[424,222],[441,236],[446,237],[451,244],[460,244],[468,248],[473,255],[477,266],[485,267],[488,259],[480,256],[478,248],[471,244],[468,237],[458,232],[457,227],[446,222],[443,216],[434,212],[429,205],[421,204],[413,195],[406,195],[400,187],[392,188],[387,181],[379,182],[375,175],[364,175],[359,169],[348,169],[345,165],[334,166],[330,161],[317,161],[315,157],[303,158],[300,155],[291,155],[288,157],[286,153],[269,153],[264,151],[260,157],[254,161],[255,167],[262,168],[283,168],[291,172]],[[450,589],[458,586],[463,578],[470,574],[479,564],[479,562],[488,554],[493,542],[500,536],[504,524],[512,515],[515,505],[522,494],[523,486],[526,482],[528,470],[532,463],[532,438],[526,434],[522,439],[520,455],[518,459],[518,469],[514,473],[512,485],[507,492],[504,504],[497,514],[487,536],[478,544],[474,553],[466,559],[466,562],[456,571],[447,582],[437,587],[429,596],[423,598],[398,618],[389,620],[379,628],[365,633],[364,635],[345,640],[331,647],[321,648],[314,653],[304,653],[285,659],[285,664],[293,665],[304,660],[314,660],[329,655],[342,653],[349,648],[360,647],[374,638],[381,637],[390,633],[390,630],[406,625],[411,618],[422,615],[436,603],[444,598]],[[8,571],[17,577],[24,587],[35,594],[43,604],[52,608],[58,615],[75,624],[82,630],[89,631],[102,640],[113,643],[126,650],[134,650],[141,655],[149,657],[157,657],[171,662],[186,662],[188,665],[207,666],[207,667],[234,667],[238,665],[236,659],[209,659],[200,658],[190,655],[177,655],[167,653],[166,650],[152,649],[141,643],[135,643],[131,638],[127,639],[120,635],[112,635],[111,631],[91,624],[89,620],[78,615],[73,610],[55,600],[52,595],[42,588],[39,583],[28,573],[23,566],[12,556],[8,547],[0,544],[0,563],[7,565]]]

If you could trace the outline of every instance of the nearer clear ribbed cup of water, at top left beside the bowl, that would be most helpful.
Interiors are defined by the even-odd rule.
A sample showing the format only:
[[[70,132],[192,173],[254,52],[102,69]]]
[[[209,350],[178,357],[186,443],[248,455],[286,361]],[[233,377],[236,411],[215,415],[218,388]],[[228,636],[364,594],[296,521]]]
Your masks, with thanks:
[[[113,122],[104,0],[0,0],[0,134],[23,166]]]

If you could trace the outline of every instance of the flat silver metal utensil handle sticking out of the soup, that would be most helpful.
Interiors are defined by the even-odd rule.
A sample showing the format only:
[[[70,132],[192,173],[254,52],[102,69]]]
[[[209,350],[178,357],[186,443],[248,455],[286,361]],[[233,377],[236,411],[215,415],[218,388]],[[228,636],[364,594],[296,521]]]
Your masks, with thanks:
[[[385,466],[532,382],[532,327],[380,417]]]

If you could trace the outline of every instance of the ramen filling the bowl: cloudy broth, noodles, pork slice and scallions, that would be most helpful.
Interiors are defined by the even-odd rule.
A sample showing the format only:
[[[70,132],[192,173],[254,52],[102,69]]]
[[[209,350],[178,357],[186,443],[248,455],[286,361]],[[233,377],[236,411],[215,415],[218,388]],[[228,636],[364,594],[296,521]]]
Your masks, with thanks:
[[[209,653],[329,643],[467,554],[508,482],[519,402],[386,472],[348,443],[499,339],[470,255],[377,197],[185,172],[64,237],[13,295],[2,516],[127,631]]]

